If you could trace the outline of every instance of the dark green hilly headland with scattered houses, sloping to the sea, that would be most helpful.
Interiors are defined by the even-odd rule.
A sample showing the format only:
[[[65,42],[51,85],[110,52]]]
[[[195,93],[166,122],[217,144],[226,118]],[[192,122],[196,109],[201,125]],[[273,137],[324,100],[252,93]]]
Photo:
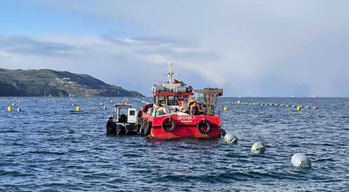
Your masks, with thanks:
[[[90,75],[0,68],[0,96],[143,96]]]

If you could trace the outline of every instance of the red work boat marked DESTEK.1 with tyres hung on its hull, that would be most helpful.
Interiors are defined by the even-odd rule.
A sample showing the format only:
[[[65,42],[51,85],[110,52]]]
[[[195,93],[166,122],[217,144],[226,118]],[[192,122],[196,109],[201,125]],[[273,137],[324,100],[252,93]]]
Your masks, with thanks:
[[[192,96],[193,88],[173,80],[172,63],[167,82],[157,82],[152,88],[153,103],[139,111],[140,134],[148,138],[218,138],[220,119],[214,113],[215,98],[223,95],[222,89],[194,90],[203,94],[200,103]]]

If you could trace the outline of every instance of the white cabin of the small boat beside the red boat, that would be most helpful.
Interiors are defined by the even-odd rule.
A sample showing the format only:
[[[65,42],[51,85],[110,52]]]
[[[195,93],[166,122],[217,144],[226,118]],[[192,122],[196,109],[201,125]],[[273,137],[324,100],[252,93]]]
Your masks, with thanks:
[[[137,109],[131,104],[121,103],[114,105],[113,121],[120,124],[137,122]]]

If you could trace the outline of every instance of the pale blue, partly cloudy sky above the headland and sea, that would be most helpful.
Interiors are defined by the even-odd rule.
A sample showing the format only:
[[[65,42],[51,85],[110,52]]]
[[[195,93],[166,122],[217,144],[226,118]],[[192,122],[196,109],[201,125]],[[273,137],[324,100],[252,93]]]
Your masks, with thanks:
[[[0,0],[0,68],[89,74],[150,96],[349,96],[348,0]]]

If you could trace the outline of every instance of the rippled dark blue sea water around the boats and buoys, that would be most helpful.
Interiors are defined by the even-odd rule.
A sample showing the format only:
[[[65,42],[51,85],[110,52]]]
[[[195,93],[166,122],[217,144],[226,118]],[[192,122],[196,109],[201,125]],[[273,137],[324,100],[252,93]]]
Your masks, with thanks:
[[[106,119],[122,99],[0,98],[0,191],[349,190],[349,98],[219,98],[217,108],[227,106],[217,110],[222,128],[237,144],[107,136]],[[129,103],[143,104],[132,97]],[[251,153],[255,142],[267,146],[264,154]],[[296,152],[306,154],[312,167],[293,167]]]

